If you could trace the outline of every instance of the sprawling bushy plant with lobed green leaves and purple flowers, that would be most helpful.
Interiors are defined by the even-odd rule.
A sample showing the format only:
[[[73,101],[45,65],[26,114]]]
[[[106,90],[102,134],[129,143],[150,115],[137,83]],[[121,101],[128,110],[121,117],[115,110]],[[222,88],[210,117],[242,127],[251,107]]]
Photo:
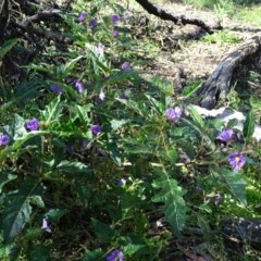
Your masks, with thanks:
[[[172,84],[142,78],[124,8],[75,12],[73,45],[47,47],[2,86],[0,257],[55,260],[76,248],[80,260],[160,259],[225,195],[247,204],[253,115],[237,140],[235,122],[207,121]]]

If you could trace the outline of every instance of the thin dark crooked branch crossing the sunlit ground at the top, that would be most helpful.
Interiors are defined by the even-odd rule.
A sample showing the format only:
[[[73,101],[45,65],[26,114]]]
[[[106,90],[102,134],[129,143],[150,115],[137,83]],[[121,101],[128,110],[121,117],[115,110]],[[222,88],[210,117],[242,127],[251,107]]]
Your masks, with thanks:
[[[200,28],[204,29],[207,33],[213,33],[214,29],[221,29],[222,28],[220,24],[216,24],[216,25],[213,25],[213,26],[208,26],[203,21],[200,21],[200,20],[188,18],[188,17],[185,17],[184,15],[175,16],[171,13],[165,12],[162,9],[157,8],[156,5],[150,3],[148,0],[136,0],[136,2],[138,2],[148,13],[153,14],[153,15],[162,18],[162,20],[172,21],[175,24],[197,25]]]

